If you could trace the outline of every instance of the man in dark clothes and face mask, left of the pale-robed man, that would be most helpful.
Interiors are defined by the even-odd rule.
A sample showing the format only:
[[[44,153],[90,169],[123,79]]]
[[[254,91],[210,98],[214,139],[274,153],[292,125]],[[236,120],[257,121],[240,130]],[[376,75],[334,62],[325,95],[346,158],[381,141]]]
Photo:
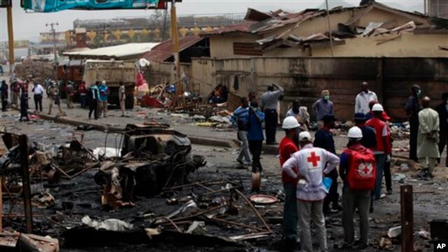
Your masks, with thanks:
[[[418,162],[417,158],[417,135],[419,133],[419,97],[421,97],[421,88],[419,85],[413,85],[411,89],[411,96],[407,99],[406,114],[409,116],[409,126],[411,136],[409,138],[409,159]]]

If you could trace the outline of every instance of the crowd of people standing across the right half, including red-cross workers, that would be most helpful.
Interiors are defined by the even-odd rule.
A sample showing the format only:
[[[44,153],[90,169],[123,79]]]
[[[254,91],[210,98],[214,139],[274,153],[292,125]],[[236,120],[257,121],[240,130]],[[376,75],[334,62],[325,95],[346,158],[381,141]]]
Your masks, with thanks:
[[[256,97],[249,95],[241,98],[241,106],[232,114],[231,121],[237,127],[241,141],[237,162],[251,165],[252,172],[262,172],[263,123],[266,144],[277,144],[277,111],[283,91],[279,85],[269,85],[260,97],[260,110]],[[432,179],[434,167],[440,163],[448,140],[448,94],[442,94],[442,102],[433,110],[430,109],[430,98],[423,97],[421,88],[414,85],[405,110],[411,131],[409,158],[420,163],[421,179]],[[285,137],[279,144],[279,160],[286,195],[283,208],[286,251],[293,251],[297,237],[300,237],[302,251],[312,251],[310,222],[316,228],[321,251],[327,251],[324,216],[338,211],[342,211],[344,228],[344,243],[339,246],[359,250],[368,246],[368,216],[374,211],[374,202],[386,197],[382,193],[383,176],[386,193],[393,192],[391,118],[368,83],[361,84],[354,111],[356,126],[349,129],[346,149],[340,155],[336,153],[332,134],[337,119],[329,90],[323,90],[321,98],[312,106],[318,121],[314,137],[309,132],[309,113],[298,100],[293,101],[285,115],[282,124]],[[338,193],[339,178],[342,180],[342,200]],[[360,239],[357,241],[353,227],[356,209],[360,216]]]

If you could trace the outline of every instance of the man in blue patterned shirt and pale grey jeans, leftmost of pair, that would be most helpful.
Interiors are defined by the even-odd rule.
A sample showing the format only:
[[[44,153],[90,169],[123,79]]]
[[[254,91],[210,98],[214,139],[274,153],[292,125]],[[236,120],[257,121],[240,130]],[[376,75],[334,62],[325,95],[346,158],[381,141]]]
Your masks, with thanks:
[[[230,120],[232,121],[232,125],[237,126],[238,128],[238,139],[241,141],[241,149],[239,150],[239,155],[237,158],[237,162],[241,165],[247,165],[251,163],[251,155],[249,154],[249,144],[247,140],[247,122],[249,116],[248,109],[248,99],[247,97],[241,98],[241,106],[235,109]],[[246,163],[244,163],[243,158]]]

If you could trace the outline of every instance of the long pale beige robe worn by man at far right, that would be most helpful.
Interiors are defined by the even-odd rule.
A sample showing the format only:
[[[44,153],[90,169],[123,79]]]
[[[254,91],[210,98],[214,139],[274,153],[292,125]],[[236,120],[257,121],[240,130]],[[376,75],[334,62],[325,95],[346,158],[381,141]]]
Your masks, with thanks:
[[[417,136],[417,158],[440,158],[439,148],[439,114],[426,108],[419,112],[419,134]],[[433,138],[428,134],[433,132]]]

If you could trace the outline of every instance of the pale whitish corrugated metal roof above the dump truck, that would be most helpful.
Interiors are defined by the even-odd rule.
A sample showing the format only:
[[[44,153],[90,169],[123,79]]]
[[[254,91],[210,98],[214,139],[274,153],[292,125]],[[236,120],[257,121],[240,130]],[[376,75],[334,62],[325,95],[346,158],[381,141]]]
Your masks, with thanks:
[[[81,52],[64,52],[64,55],[80,57],[110,57],[117,59],[120,57],[142,55],[153,49],[158,44],[159,43],[127,43],[124,45],[114,45],[104,48],[83,50]]]

